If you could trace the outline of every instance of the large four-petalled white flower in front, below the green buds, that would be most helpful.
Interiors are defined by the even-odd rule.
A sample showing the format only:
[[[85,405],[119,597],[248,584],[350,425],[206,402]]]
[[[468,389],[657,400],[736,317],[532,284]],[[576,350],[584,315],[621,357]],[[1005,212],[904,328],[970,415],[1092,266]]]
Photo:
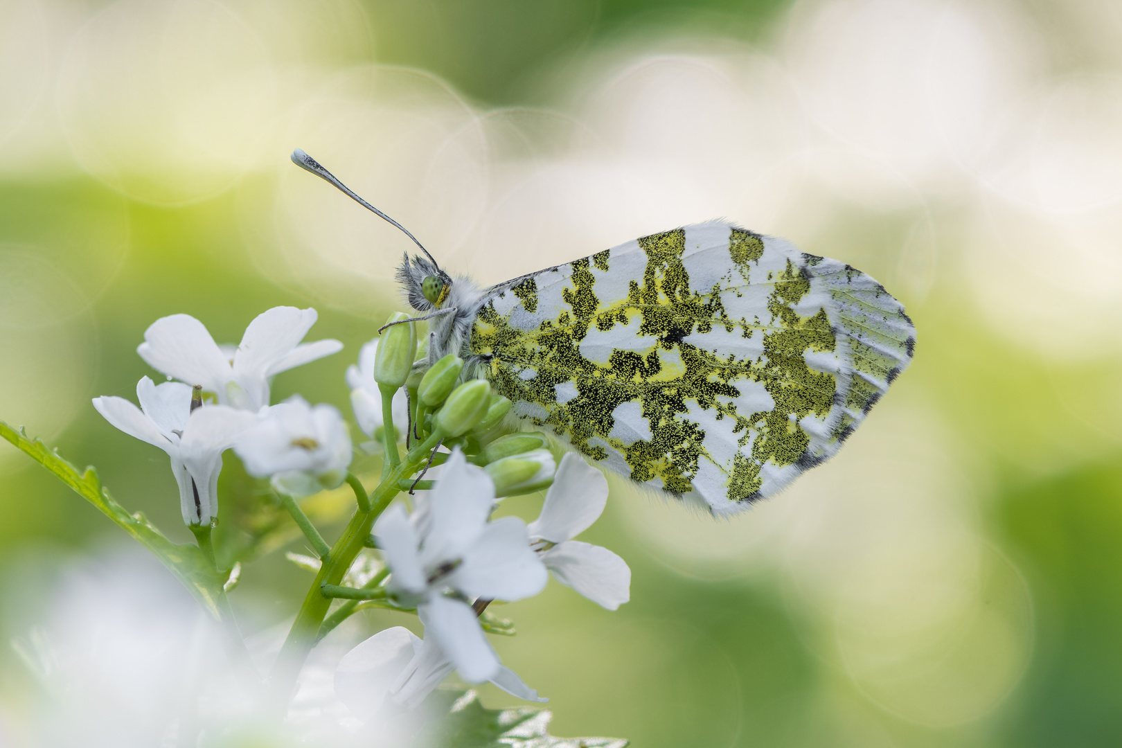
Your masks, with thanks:
[[[425,636],[470,683],[495,677],[500,665],[471,606],[444,592],[469,600],[521,600],[541,592],[548,578],[521,519],[487,521],[494,502],[490,478],[457,449],[422,508],[407,517],[395,504],[374,528],[393,571],[389,589],[416,602]]]

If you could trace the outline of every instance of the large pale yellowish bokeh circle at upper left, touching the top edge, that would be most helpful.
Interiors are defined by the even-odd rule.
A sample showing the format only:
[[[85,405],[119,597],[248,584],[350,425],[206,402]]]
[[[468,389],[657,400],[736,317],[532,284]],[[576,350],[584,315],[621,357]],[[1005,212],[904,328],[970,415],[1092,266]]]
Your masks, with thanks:
[[[228,188],[278,114],[266,48],[213,0],[104,8],[74,36],[55,95],[82,167],[157,204]]]

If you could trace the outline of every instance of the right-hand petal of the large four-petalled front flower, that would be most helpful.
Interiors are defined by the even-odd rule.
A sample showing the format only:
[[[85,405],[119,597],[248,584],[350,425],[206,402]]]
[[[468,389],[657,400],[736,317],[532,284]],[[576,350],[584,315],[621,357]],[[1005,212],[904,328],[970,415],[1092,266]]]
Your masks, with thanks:
[[[503,517],[488,523],[463,563],[445,580],[468,597],[521,600],[541,592],[549,574],[530,550],[525,524],[517,517]]]

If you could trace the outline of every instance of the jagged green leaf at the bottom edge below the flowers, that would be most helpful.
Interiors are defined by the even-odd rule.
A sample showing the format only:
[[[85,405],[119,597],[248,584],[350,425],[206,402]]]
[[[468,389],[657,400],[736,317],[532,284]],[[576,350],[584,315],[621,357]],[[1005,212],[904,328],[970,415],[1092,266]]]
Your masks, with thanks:
[[[436,702],[436,703],[433,703]],[[486,709],[475,691],[436,691],[429,707],[445,717],[424,730],[415,745],[432,748],[624,748],[619,738],[555,738],[553,714],[544,709]]]

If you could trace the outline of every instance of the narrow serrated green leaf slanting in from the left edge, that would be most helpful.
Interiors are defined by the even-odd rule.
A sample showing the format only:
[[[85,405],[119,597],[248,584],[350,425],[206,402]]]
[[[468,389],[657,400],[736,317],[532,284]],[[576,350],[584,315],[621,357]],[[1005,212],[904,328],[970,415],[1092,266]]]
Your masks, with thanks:
[[[2,421],[0,421],[0,436],[54,473],[75,493],[96,507],[101,514],[109,517],[118,527],[148,548],[212,616],[221,618],[218,600],[226,580],[218,575],[218,572],[196,546],[176,545],[164,537],[164,534],[156,529],[142,514],[139,511],[129,514],[125,507],[109,496],[109,491],[101,484],[101,479],[94,468],[86,468],[85,472],[79,473],[77,468],[63,460],[57,452],[42,441],[28,438],[22,428],[17,431]]]

